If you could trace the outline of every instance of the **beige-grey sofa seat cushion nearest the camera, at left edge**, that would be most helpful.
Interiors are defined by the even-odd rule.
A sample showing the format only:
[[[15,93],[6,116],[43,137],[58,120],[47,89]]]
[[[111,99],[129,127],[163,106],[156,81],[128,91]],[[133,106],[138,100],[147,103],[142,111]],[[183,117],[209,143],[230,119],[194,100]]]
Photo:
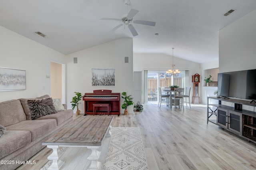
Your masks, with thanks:
[[[26,130],[7,130],[0,140],[0,159],[31,142],[31,133]]]

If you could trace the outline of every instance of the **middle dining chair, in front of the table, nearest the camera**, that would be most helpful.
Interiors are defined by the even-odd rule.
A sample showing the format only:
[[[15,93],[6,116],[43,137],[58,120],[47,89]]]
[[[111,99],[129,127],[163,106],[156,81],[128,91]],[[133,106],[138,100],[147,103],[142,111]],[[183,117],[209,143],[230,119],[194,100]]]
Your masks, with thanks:
[[[178,106],[183,107],[183,98],[184,98],[184,88],[174,88],[174,95],[171,96],[171,107],[174,105],[174,109],[176,109],[176,104],[178,102]]]

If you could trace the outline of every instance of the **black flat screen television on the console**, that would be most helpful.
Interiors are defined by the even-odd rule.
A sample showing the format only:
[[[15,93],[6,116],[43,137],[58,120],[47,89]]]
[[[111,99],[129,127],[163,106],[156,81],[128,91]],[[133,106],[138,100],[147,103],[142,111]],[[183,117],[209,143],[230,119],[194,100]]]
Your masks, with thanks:
[[[256,101],[256,69],[218,73],[218,96]]]

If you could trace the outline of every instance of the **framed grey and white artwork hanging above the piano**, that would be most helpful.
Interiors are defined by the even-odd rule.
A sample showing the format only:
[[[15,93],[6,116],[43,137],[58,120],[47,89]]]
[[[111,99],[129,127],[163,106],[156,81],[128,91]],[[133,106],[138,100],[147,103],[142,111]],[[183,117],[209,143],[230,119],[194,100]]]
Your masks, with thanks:
[[[92,86],[115,86],[116,69],[92,69]]]

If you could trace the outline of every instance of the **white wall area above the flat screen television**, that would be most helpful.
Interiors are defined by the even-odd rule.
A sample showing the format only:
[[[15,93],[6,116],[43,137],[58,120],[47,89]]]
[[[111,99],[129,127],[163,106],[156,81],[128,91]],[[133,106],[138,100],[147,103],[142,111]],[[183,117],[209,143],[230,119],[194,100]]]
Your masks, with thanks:
[[[220,73],[256,69],[256,10],[219,32]]]

